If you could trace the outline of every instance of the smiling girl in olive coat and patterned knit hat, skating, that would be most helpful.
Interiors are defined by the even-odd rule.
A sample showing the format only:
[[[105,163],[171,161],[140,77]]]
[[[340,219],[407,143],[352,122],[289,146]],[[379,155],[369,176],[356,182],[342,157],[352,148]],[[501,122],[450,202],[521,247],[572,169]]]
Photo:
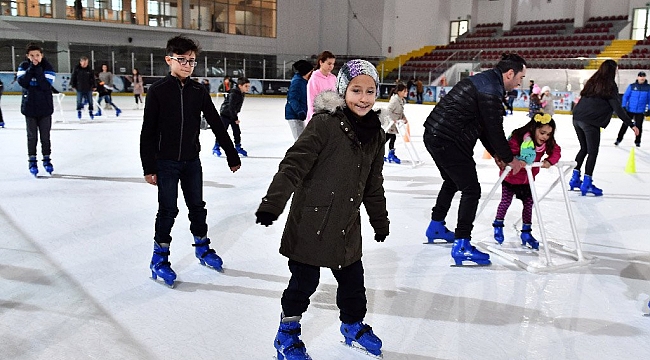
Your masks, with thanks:
[[[287,150],[255,215],[269,226],[293,194],[280,253],[289,258],[291,279],[282,294],[280,328],[275,338],[278,359],[311,359],[300,340],[300,319],[318,287],[320,268],[331,269],[338,282],[341,333],[349,346],[381,354],[381,340],[366,316],[361,263],[364,205],[375,240],[388,236],[388,212],[382,169],[385,136],[376,112],[379,77],[365,60],[350,60],[339,72],[337,91],[316,98],[316,112],[302,135]],[[343,97],[343,99],[341,99]]]

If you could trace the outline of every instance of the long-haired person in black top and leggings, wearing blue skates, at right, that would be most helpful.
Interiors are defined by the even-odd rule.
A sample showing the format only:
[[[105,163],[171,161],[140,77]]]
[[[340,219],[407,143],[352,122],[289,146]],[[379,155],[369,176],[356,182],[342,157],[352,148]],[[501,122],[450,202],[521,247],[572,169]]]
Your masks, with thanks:
[[[614,60],[605,60],[598,71],[587,80],[585,87],[580,92],[580,101],[573,108],[573,128],[578,135],[580,150],[576,154],[576,167],[569,181],[569,188],[579,188],[582,196],[593,194],[603,195],[603,190],[593,184],[592,175],[598,158],[600,147],[600,128],[606,128],[616,113],[625,126],[632,128],[634,135],[639,135],[639,129],[621,107],[616,86],[616,69],[618,65]],[[585,176],[580,179],[580,169],[585,162]]]

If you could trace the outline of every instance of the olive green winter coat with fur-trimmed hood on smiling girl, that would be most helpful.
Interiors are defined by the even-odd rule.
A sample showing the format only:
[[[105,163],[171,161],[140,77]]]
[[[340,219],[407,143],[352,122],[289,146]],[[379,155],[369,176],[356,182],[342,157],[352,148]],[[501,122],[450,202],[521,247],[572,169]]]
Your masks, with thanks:
[[[361,259],[364,204],[375,233],[388,234],[384,197],[385,133],[361,144],[335,92],[318,95],[320,112],[287,150],[258,211],[282,213],[293,194],[280,253],[289,259],[340,269]]]

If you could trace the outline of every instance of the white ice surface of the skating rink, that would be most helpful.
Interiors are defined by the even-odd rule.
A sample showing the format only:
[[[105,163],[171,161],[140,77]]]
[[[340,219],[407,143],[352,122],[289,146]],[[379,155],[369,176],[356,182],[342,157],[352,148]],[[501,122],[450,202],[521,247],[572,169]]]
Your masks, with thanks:
[[[172,233],[170,289],[151,279],[149,261],[156,188],[144,182],[139,158],[142,110],[115,97],[124,110],[79,122],[74,99],[54,114],[54,175],[39,161],[27,170],[25,120],[19,96],[2,96],[0,129],[0,358],[2,359],[272,359],[280,297],[289,280],[278,253],[286,213],[271,227],[254,212],[293,138],[284,99],[246,98],[240,114],[249,157],[232,174],[212,156],[214,136],[201,135],[209,237],[224,273],[194,257],[187,209]],[[222,98],[215,99],[217,106]],[[385,105],[385,104],[384,104]],[[650,354],[650,134],[636,148],[636,173],[624,171],[633,134],[613,145],[620,120],[603,130],[594,183],[604,196],[569,193],[578,237],[589,264],[529,272],[492,255],[490,267],[451,267],[451,244],[425,245],[424,232],[441,178],[422,143],[432,106],[406,106],[412,143],[425,163],[384,167],[390,236],[376,243],[363,217],[368,315],[383,340],[384,359],[642,359]],[[505,119],[506,132],[524,124],[523,111]],[[569,115],[557,115],[562,160],[578,142]],[[646,132],[650,125],[646,125]],[[498,179],[494,162],[475,159],[483,200]],[[39,160],[40,160],[39,146]],[[553,169],[537,177],[541,192]],[[494,243],[499,192],[475,222],[474,242]],[[458,196],[450,216],[455,226]],[[556,187],[540,202],[549,239],[572,244],[564,197]],[[506,217],[503,251],[544,263],[544,251],[523,250]],[[533,216],[533,234],[540,239]],[[566,254],[551,252],[554,261]],[[302,340],[318,360],[368,359],[341,344],[336,281],[323,269],[321,285],[302,320]]]

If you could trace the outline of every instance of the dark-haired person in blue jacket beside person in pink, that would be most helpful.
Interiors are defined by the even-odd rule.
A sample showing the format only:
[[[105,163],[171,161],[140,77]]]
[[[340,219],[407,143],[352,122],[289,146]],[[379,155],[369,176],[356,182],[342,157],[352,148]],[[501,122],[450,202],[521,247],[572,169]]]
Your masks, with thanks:
[[[307,118],[307,82],[314,67],[306,60],[298,60],[293,64],[295,73],[291,78],[287,92],[287,104],[284,106],[284,118],[289,123],[293,140],[298,139],[305,129]]]

